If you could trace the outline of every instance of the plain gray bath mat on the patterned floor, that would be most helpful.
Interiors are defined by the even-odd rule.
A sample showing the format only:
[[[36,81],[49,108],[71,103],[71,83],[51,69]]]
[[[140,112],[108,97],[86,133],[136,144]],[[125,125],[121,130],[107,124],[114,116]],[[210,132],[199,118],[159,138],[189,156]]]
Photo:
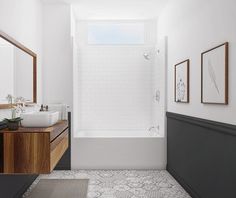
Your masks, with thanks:
[[[86,198],[88,179],[41,179],[27,198]]]

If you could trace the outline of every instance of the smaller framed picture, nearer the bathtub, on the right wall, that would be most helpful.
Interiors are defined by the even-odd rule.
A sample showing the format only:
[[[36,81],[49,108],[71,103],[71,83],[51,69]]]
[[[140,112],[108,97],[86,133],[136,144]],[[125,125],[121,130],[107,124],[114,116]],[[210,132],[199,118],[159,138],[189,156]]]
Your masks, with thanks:
[[[189,102],[189,62],[175,65],[175,102]]]

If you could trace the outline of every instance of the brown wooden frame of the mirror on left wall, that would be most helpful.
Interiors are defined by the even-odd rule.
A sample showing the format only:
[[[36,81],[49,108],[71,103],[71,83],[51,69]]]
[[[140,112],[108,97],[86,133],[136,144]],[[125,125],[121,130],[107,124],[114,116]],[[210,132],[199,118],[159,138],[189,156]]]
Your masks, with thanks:
[[[37,103],[37,54],[0,30],[0,37],[33,57],[33,101]],[[9,109],[10,104],[0,104],[0,109]]]

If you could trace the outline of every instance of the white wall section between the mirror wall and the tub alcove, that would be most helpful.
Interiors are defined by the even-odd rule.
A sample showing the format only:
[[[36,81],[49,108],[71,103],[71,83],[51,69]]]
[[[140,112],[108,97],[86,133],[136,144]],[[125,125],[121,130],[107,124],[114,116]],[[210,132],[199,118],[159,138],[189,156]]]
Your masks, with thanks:
[[[73,102],[73,53],[70,5],[43,6],[43,102]]]

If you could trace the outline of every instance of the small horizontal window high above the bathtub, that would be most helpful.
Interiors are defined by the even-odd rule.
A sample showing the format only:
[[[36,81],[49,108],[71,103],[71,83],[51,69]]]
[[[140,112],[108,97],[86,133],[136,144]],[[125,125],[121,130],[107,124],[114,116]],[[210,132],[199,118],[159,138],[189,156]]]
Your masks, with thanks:
[[[88,24],[88,44],[90,45],[142,45],[144,43],[143,22]]]

